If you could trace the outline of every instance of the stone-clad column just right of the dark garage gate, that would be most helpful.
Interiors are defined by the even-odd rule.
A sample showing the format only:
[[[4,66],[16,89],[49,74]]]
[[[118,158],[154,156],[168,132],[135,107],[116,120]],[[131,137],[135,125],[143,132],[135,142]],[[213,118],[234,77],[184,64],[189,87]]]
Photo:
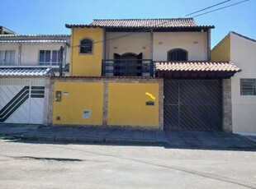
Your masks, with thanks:
[[[222,80],[222,128],[232,132],[231,79]]]

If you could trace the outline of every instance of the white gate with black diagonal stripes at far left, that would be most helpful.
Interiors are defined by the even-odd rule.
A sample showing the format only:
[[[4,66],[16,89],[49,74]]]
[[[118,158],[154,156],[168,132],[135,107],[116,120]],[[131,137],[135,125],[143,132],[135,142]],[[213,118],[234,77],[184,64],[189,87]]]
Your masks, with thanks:
[[[44,122],[44,79],[0,79],[0,123]]]

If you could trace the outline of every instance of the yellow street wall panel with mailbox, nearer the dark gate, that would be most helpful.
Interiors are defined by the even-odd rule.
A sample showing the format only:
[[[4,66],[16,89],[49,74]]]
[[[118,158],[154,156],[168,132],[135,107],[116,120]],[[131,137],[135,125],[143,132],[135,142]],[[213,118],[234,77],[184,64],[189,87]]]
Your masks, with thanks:
[[[154,106],[146,106],[147,101]],[[109,83],[107,124],[158,127],[159,84]]]

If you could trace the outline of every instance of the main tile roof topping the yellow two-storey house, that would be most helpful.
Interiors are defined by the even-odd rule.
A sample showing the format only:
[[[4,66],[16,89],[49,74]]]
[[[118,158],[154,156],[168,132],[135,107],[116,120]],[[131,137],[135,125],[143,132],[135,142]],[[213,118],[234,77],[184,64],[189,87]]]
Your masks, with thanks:
[[[90,25],[66,25],[72,27],[105,27],[105,28],[179,28],[206,27],[213,25],[197,25],[193,18],[162,18],[162,19],[95,19]]]

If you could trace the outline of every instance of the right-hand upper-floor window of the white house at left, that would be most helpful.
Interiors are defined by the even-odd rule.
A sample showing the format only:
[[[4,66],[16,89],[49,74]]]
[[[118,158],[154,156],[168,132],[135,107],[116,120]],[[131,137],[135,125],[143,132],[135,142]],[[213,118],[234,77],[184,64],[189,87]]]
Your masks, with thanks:
[[[59,50],[40,50],[39,64],[41,66],[57,66],[59,64]]]

